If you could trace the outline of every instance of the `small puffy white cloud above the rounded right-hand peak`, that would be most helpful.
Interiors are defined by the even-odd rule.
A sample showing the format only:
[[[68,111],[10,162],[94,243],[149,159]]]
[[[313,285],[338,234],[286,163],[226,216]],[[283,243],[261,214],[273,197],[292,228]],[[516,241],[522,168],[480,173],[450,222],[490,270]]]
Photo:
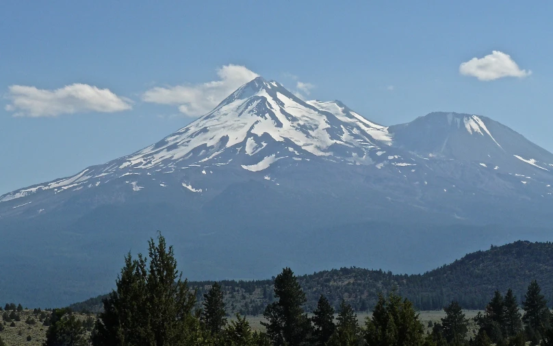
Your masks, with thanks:
[[[483,81],[502,77],[526,77],[532,71],[521,70],[511,56],[501,51],[492,51],[484,58],[472,58],[459,66],[461,75],[470,75]]]

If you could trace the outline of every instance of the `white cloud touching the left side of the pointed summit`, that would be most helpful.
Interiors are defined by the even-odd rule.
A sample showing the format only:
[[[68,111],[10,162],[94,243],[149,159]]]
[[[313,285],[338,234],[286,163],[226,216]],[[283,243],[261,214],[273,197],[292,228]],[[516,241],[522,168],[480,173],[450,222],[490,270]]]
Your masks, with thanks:
[[[188,116],[200,116],[215,108],[234,90],[257,77],[257,73],[239,65],[226,65],[218,69],[220,80],[194,86],[182,85],[168,88],[155,87],[142,95],[142,100],[164,105],[179,106]]]

